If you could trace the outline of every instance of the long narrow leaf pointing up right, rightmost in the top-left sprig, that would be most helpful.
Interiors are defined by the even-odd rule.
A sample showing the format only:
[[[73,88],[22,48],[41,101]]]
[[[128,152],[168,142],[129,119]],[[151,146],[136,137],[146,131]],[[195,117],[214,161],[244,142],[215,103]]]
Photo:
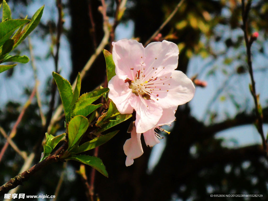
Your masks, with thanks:
[[[35,14],[33,15],[30,23],[24,27],[24,33],[23,35],[21,36],[21,38],[17,41],[17,43],[14,45],[13,49],[15,47],[18,46],[18,44],[20,44],[32,31],[33,29],[35,29],[37,27],[37,25],[39,24],[40,22],[40,19],[42,17],[42,14],[43,14],[43,10],[44,10],[44,6],[42,6],[41,8],[39,8]]]

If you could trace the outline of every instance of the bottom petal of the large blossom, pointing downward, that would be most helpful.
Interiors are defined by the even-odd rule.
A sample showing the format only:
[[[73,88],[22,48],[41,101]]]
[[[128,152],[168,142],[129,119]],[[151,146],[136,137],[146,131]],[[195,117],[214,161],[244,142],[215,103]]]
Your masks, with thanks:
[[[162,108],[153,100],[145,100],[141,96],[133,96],[130,105],[136,110],[137,133],[144,133],[154,128],[162,116]]]

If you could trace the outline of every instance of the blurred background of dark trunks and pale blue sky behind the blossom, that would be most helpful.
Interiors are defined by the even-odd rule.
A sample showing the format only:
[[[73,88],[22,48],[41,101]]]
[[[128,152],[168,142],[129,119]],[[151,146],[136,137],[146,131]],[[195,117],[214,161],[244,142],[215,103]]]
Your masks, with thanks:
[[[247,1],[246,1],[247,2]],[[52,71],[51,55],[58,20],[55,1],[10,0],[13,18],[29,18],[43,4],[44,13],[31,43],[40,81],[42,109],[49,109]],[[60,74],[72,83],[94,53],[89,7],[95,21],[96,42],[103,37],[102,15],[98,0],[64,0],[64,31],[60,40]],[[106,1],[109,22],[114,21],[116,2]],[[145,43],[170,15],[178,1],[129,0],[122,21],[115,30],[115,40],[135,38]],[[94,192],[102,200],[238,200],[211,198],[211,194],[261,194],[268,198],[268,163],[261,138],[254,126],[254,101],[249,91],[246,49],[241,29],[240,0],[187,0],[161,31],[162,39],[178,44],[178,70],[188,77],[207,82],[196,87],[192,101],[178,107],[177,121],[170,135],[152,150],[143,143],[144,154],[125,167],[123,144],[129,122],[99,148],[109,178],[96,173]],[[249,33],[257,31],[252,45],[252,65],[256,91],[264,115],[264,132],[268,131],[268,3],[253,0],[249,14]],[[111,43],[111,41],[110,41]],[[110,44],[106,46],[110,50]],[[28,40],[17,50],[29,54]],[[82,81],[82,93],[93,90],[105,80],[105,59],[98,56]],[[10,132],[21,106],[35,85],[31,63],[18,64],[0,74],[0,125]],[[56,95],[59,105],[59,95]],[[55,106],[56,108],[56,106]],[[39,139],[42,123],[36,99],[27,109],[14,138],[17,146],[31,153]],[[64,121],[58,122],[56,134],[64,132]],[[143,142],[143,140],[142,140]],[[0,147],[5,143],[0,136]],[[41,151],[40,153],[41,154]],[[88,152],[92,155],[93,152]],[[40,156],[40,155],[39,155]],[[35,159],[35,163],[38,162]],[[23,159],[12,150],[5,152],[0,164],[1,184],[19,173]],[[86,200],[79,174],[79,163],[54,163],[36,173],[18,189],[26,195],[54,195],[62,172],[64,180],[57,200]],[[86,167],[90,179],[91,168]],[[244,197],[239,200],[253,200]]]

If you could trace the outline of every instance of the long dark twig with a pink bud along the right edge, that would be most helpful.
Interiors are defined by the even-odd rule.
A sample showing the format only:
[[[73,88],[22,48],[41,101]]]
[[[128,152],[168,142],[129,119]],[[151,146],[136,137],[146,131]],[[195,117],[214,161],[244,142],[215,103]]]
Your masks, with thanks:
[[[249,14],[251,2],[252,1],[248,1],[247,5],[245,5],[245,1],[242,0],[242,19],[243,19],[242,29],[243,29],[244,37],[245,37],[245,43],[246,43],[246,49],[247,49],[247,62],[248,62],[248,67],[249,67],[250,79],[251,79],[250,91],[254,99],[255,111],[256,111],[256,116],[257,116],[256,127],[262,138],[263,148],[266,152],[268,152],[267,141],[265,140],[264,132],[263,132],[262,109],[259,104],[259,94],[258,95],[256,94],[255,81],[254,81],[253,70],[252,70],[252,61],[251,61],[252,42],[250,42],[249,37],[248,37],[248,32],[247,32],[247,29],[248,29],[247,21],[248,21],[248,14]]]

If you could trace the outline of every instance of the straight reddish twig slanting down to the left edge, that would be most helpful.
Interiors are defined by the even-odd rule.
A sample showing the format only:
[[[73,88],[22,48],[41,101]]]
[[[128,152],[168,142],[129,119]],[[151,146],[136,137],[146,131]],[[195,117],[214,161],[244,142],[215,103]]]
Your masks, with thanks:
[[[16,133],[17,133],[17,127],[18,127],[18,125],[20,124],[20,122],[21,122],[21,120],[22,120],[22,117],[23,117],[24,114],[25,114],[26,109],[27,109],[28,106],[31,104],[32,99],[33,99],[33,97],[35,96],[35,92],[36,92],[36,88],[33,88],[32,94],[30,95],[28,101],[24,104],[24,106],[23,106],[23,108],[22,108],[22,110],[21,110],[21,113],[20,113],[20,115],[18,116],[18,119],[17,119],[16,123],[14,124],[14,126],[13,126],[13,128],[12,128],[10,134],[9,134],[9,138],[10,138],[10,139],[12,139],[12,138],[16,135]],[[8,140],[7,140],[6,143],[5,143],[5,145],[4,145],[3,148],[2,148],[1,152],[0,152],[0,162],[1,162],[1,160],[2,160],[2,157],[3,157],[3,155],[4,155],[5,151],[6,151],[6,149],[8,148],[8,145],[9,145],[9,142],[8,142]]]

